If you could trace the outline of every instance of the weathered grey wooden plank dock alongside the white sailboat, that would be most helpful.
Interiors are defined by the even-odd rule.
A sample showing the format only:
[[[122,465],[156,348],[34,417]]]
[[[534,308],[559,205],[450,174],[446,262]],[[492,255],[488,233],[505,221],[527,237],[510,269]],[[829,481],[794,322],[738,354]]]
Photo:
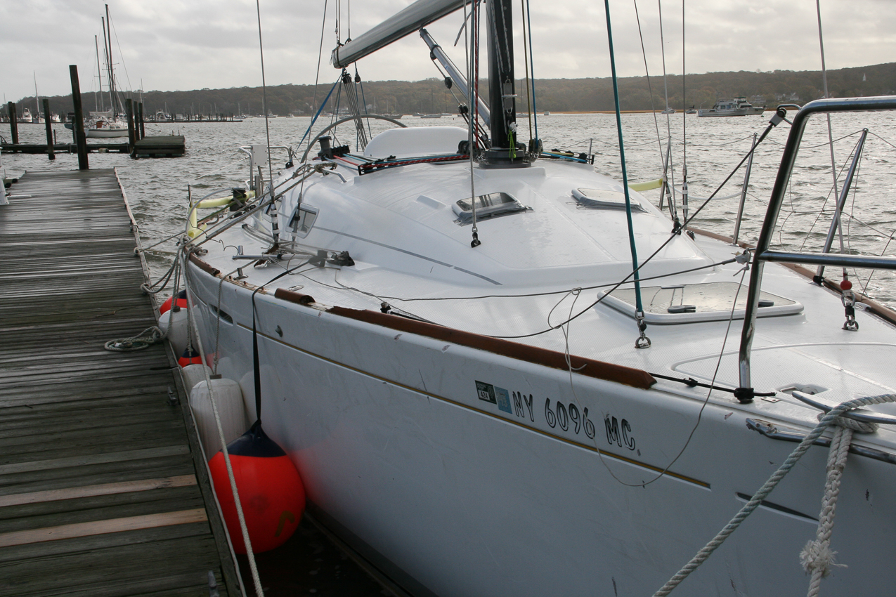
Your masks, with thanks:
[[[241,594],[170,351],[103,348],[155,324],[115,171],[27,173],[10,191],[0,594]]]

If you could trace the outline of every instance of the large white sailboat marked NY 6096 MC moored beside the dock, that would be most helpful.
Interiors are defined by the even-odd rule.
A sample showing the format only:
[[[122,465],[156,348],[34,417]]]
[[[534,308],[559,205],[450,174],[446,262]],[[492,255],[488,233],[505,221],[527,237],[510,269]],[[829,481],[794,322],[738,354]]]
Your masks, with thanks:
[[[411,4],[332,63],[462,4]],[[770,241],[807,119],[896,98],[819,100],[793,118],[766,227],[745,252],[670,234],[664,213],[587,156],[524,145],[502,35],[515,31],[510,5],[483,4],[472,22],[479,10],[497,36],[492,99],[475,111],[491,142],[397,128],[352,150],[331,147],[331,126],[272,184],[267,150],[246,149],[247,203],[194,202],[179,259],[208,362],[239,380],[251,417],[260,401],[309,511],[409,593],[650,595],[746,502],[745,524],[675,594],[804,592],[825,440],[809,437],[777,489],[751,497],[825,409],[892,396],[896,313],[854,308],[768,261],[896,260],[797,258]],[[197,222],[206,207],[218,211]],[[738,350],[728,330],[741,326]],[[896,581],[893,414],[851,415],[882,424],[852,438],[830,547],[846,567],[826,594],[888,594]]]

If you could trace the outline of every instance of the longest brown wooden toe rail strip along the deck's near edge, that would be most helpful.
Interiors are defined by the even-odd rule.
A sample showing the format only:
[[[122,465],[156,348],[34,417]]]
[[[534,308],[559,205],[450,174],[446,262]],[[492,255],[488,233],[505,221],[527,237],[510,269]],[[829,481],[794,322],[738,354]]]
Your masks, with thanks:
[[[474,334],[472,332],[461,331],[460,329],[445,328],[437,326],[433,323],[425,321],[409,320],[405,317],[392,315],[389,313],[380,313],[378,311],[361,311],[358,309],[348,309],[345,307],[330,307],[327,312],[340,317],[347,317],[352,320],[364,321],[383,328],[396,329],[398,331],[408,332],[409,334],[417,334],[435,338],[452,344],[469,346],[477,350],[484,350],[489,353],[500,354],[519,361],[532,362],[538,365],[544,365],[552,369],[560,369],[568,371],[569,366],[566,364],[566,355],[556,350],[548,350],[547,348],[539,348],[538,346],[530,346],[519,342],[511,342],[501,338],[493,338]],[[582,356],[570,355],[570,362],[573,371],[579,375],[595,378],[598,380],[616,381],[616,383],[625,384],[633,388],[650,388],[657,380],[653,379],[647,371],[616,365],[609,362],[595,361],[594,359],[584,358]]]

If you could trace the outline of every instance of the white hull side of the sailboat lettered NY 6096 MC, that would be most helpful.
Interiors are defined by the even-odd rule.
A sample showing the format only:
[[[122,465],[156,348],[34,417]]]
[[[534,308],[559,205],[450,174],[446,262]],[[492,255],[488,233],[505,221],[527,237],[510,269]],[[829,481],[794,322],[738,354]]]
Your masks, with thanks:
[[[251,292],[220,290],[207,269],[189,273],[203,345],[251,397]],[[706,405],[688,441],[702,400],[642,372],[571,373],[529,346],[289,299],[255,297],[265,430],[324,519],[411,593],[652,594],[795,446],[748,429],[759,401]],[[676,594],[805,591],[798,554],[814,538],[826,456],[811,449]],[[849,567],[825,593],[884,594],[896,580],[892,466],[847,467],[832,548]]]

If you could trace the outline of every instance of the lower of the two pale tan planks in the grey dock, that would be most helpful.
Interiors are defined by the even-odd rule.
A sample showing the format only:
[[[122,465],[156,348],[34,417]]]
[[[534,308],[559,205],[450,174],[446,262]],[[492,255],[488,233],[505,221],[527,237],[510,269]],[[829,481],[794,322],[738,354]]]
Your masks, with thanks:
[[[208,516],[205,514],[205,508],[197,507],[192,510],[179,510],[177,512],[110,518],[90,523],[75,523],[73,525],[47,526],[43,529],[2,533],[0,534],[0,548],[58,541],[60,539],[76,539],[78,537],[90,537],[91,535],[106,533],[138,531],[159,526],[189,525],[191,523],[202,523],[208,519]]]

